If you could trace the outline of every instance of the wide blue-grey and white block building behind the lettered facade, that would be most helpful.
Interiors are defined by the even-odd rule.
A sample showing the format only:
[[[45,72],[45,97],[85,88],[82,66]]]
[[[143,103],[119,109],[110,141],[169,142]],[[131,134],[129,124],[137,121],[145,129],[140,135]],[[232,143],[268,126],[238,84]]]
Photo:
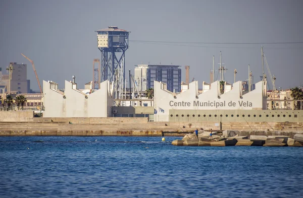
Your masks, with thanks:
[[[171,92],[181,91],[181,66],[137,64],[135,67],[138,91],[154,88],[154,81],[166,83]]]

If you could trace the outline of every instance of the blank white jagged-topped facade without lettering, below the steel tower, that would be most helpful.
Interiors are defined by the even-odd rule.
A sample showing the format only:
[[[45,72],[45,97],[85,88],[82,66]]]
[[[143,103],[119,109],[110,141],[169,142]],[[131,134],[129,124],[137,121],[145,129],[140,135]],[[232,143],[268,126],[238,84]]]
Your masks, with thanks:
[[[65,92],[61,92],[57,83],[43,81],[43,117],[109,117],[113,103],[109,81],[91,94],[77,90],[72,82],[65,81]]]

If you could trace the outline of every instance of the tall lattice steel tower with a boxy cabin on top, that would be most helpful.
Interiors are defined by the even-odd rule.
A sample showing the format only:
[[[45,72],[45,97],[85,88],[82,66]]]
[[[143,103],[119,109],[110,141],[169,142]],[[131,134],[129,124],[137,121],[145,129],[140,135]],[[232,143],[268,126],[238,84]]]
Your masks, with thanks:
[[[124,79],[124,58],[125,51],[128,49],[130,32],[118,29],[117,26],[109,26],[109,28],[95,32],[97,33],[98,49],[101,52],[100,82],[116,81],[117,76],[121,76],[121,73]]]

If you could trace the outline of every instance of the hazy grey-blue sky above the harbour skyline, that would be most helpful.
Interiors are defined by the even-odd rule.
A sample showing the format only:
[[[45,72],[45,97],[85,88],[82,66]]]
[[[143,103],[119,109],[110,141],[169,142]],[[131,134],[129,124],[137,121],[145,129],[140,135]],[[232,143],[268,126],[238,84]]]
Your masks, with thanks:
[[[302,8],[300,0],[3,0],[0,67],[26,63],[31,89],[38,90],[23,53],[34,61],[41,85],[51,80],[64,88],[74,75],[84,89],[92,81],[93,59],[101,56],[94,31],[118,26],[131,32],[125,65],[132,74],[135,64],[175,64],[181,65],[185,81],[184,66],[190,65],[190,81],[194,78],[202,88],[203,81],[210,82],[213,55],[218,70],[222,51],[226,81],[233,83],[234,69],[237,81],[248,79],[250,64],[256,83],[262,76],[263,46],[276,88],[288,89],[303,86]]]

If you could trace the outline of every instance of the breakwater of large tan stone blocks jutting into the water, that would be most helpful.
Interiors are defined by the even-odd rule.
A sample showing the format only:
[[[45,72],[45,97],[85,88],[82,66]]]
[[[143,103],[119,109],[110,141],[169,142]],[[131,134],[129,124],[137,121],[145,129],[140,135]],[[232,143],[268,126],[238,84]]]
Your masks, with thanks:
[[[238,136],[239,131],[224,130],[222,133],[214,131],[212,138],[209,132],[199,131],[198,138],[195,134],[188,134],[182,140],[174,140],[175,146],[264,146],[264,147],[302,147],[303,134],[295,134],[293,139],[288,136]]]

